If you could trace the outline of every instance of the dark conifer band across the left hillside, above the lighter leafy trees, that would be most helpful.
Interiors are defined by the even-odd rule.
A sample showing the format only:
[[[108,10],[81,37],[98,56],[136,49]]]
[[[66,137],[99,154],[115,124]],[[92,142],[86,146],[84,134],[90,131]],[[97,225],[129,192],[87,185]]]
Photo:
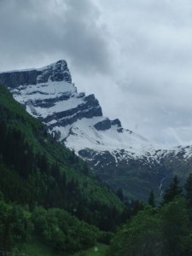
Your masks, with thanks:
[[[118,224],[125,222],[142,207],[138,201],[131,201],[124,210],[110,206],[94,199],[94,190],[90,191],[90,198],[93,195],[90,200],[84,196],[87,182],[80,184],[75,177],[67,178],[60,163],[50,163],[45,153],[35,152],[20,130],[1,121],[0,134],[0,191],[6,201],[27,204],[30,211],[36,206],[46,209],[59,207],[103,231],[116,230]],[[67,157],[66,168],[80,166],[74,152]],[[86,164],[81,167],[81,172],[90,175]],[[117,195],[123,201],[119,192]]]

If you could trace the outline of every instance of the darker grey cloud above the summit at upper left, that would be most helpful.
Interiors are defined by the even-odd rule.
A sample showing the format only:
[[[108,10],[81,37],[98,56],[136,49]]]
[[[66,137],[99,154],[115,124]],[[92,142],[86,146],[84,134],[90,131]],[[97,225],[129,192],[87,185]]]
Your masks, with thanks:
[[[3,0],[0,4],[0,48],[5,64],[37,63],[35,59],[49,55],[67,58],[82,70],[108,71],[108,38],[97,22],[100,12],[94,3]]]

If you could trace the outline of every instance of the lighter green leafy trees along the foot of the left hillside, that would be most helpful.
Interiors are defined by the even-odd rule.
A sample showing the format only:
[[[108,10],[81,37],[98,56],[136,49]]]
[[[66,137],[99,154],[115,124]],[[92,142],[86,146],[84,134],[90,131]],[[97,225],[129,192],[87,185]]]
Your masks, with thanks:
[[[2,195],[2,194],[1,194]],[[0,200],[0,248],[10,252],[20,242],[38,236],[56,251],[73,253],[92,247],[99,230],[58,208],[24,207]]]

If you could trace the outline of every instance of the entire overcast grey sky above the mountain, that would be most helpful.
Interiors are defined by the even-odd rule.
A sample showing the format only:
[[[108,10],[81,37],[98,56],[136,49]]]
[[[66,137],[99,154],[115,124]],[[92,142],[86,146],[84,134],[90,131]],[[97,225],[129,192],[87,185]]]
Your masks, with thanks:
[[[0,71],[61,59],[110,119],[192,144],[191,0],[0,0]]]

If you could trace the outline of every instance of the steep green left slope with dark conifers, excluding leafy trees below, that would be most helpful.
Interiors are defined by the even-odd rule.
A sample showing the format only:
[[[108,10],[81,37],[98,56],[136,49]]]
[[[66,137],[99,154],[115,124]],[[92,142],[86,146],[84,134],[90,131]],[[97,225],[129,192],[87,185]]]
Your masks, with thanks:
[[[3,86],[0,110],[0,190],[5,199],[30,207],[61,207],[108,230],[108,221],[104,227],[102,219],[111,210],[121,214],[125,207],[119,198],[96,180],[84,161],[55,142]]]

